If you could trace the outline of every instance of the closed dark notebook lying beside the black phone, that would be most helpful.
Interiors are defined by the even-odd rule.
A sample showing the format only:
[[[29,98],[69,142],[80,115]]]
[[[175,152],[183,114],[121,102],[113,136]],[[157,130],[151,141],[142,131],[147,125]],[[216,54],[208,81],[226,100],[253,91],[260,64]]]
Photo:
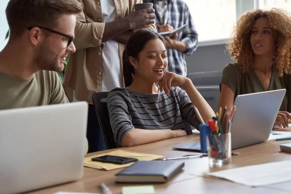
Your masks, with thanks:
[[[167,182],[183,167],[178,161],[138,161],[117,173],[116,182]]]

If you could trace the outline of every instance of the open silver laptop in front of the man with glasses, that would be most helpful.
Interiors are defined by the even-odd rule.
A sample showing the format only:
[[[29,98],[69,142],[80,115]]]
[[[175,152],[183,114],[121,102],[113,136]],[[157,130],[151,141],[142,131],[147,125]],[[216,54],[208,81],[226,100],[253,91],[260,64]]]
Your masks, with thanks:
[[[86,102],[0,111],[0,194],[80,179],[87,114]]]

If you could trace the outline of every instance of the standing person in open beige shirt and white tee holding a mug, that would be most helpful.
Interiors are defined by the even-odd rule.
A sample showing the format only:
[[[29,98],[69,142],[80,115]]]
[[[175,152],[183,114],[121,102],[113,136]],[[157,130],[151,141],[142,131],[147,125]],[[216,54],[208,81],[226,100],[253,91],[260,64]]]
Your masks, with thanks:
[[[142,0],[81,0],[84,11],[77,16],[76,53],[71,54],[64,88],[73,98],[89,103],[87,138],[89,152],[105,149],[92,95],[122,87],[124,44],[138,29],[155,30],[153,9],[133,11]],[[102,9],[101,9],[102,8]],[[97,139],[97,138],[98,139]]]

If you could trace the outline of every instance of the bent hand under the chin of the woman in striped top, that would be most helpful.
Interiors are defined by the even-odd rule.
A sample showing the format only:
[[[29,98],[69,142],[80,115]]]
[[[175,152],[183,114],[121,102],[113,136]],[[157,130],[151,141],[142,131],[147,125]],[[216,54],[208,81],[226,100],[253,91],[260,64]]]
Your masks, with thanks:
[[[189,81],[191,82],[189,78],[186,78],[184,76],[180,76],[173,72],[166,72],[164,73],[162,80],[159,81],[160,91],[162,92],[162,90],[164,90],[166,94],[169,94],[171,87],[175,86],[183,87]]]

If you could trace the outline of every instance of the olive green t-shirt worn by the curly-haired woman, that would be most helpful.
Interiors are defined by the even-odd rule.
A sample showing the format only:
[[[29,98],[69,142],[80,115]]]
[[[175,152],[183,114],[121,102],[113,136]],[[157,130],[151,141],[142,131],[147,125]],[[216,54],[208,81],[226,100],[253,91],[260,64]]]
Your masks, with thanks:
[[[279,77],[275,65],[273,65],[269,90],[263,87],[253,69],[249,68],[248,72],[242,73],[237,63],[230,63],[225,66],[222,72],[221,83],[228,86],[234,92],[234,98],[242,94],[286,89],[280,111],[291,112],[291,96],[289,95],[291,91],[291,75],[284,74],[283,77]]]

